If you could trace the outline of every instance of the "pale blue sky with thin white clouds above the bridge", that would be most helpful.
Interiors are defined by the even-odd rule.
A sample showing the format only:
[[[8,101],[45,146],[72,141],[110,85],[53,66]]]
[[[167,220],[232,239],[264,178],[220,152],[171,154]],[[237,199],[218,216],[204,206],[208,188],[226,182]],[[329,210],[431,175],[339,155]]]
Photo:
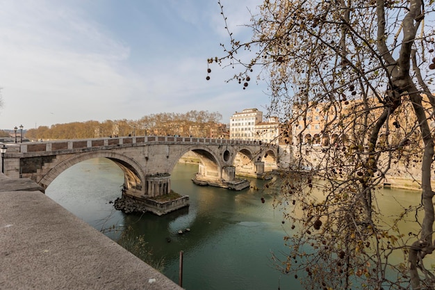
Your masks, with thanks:
[[[239,40],[261,1],[222,0]],[[0,129],[209,111],[265,112],[265,84],[210,66],[229,36],[217,0],[0,0]],[[254,72],[255,73],[255,72]],[[252,79],[255,79],[252,78]]]

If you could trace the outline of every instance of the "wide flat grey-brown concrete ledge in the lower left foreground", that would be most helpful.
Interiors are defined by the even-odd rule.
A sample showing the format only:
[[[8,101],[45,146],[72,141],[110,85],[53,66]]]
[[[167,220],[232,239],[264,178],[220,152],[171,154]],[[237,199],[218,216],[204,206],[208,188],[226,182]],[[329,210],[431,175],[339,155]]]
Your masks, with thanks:
[[[43,193],[6,191],[0,193],[0,289],[181,287]]]

